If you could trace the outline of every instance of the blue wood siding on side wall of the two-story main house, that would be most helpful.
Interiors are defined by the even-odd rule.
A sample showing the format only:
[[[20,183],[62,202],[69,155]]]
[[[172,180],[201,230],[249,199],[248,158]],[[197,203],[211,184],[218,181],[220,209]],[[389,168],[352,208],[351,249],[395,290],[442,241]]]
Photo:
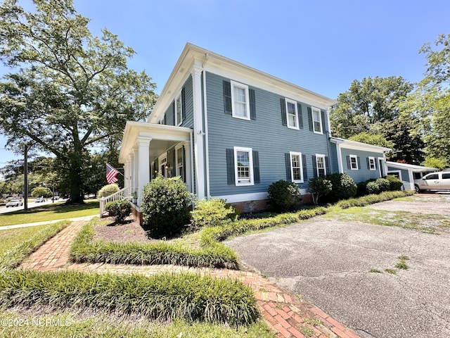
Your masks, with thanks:
[[[249,86],[255,90],[256,120],[233,118],[225,113],[224,80],[233,79],[206,73],[211,196],[267,192],[272,182],[286,180],[285,153],[290,151],[306,155],[307,176],[313,177],[311,156],[330,156],[327,134],[314,134],[307,125],[300,130],[283,126],[280,104],[283,96],[257,87]],[[302,105],[302,119],[307,121],[308,105],[299,103]],[[328,127],[323,129],[328,130]],[[226,149],[233,149],[233,146],[248,147],[259,152],[259,184],[240,187],[227,184]],[[300,186],[306,188],[307,182]]]

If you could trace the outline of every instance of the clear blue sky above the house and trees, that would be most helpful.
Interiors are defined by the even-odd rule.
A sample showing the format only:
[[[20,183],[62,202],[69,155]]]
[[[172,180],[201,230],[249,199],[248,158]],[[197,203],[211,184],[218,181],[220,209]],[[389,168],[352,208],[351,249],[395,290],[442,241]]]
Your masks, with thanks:
[[[30,0],[19,0],[32,8]],[[74,0],[136,51],[129,68],[162,90],[186,42],[335,99],[353,80],[425,72],[420,46],[449,34],[450,1]],[[0,74],[6,73],[0,66]],[[4,149],[0,166],[16,158]]]

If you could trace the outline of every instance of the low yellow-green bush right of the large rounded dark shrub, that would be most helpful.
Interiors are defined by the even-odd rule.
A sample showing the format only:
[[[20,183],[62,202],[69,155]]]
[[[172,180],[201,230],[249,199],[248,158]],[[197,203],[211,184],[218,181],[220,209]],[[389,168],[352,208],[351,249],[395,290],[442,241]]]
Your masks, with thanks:
[[[231,222],[234,215],[234,209],[227,206],[223,199],[196,201],[195,208],[191,212],[191,225],[194,227],[224,225]]]

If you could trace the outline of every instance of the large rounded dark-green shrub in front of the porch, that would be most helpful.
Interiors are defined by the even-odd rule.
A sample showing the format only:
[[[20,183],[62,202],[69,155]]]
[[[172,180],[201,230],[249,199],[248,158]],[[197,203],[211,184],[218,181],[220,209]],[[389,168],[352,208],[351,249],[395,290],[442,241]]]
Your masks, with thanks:
[[[180,177],[158,175],[143,188],[143,223],[154,234],[174,236],[189,222],[193,195]]]

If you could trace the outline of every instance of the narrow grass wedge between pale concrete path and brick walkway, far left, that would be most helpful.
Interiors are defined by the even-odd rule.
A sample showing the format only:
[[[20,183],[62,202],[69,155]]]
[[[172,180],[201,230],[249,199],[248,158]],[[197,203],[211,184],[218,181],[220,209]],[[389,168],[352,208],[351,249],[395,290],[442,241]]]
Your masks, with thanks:
[[[70,222],[67,220],[49,224],[41,231],[36,232],[30,239],[27,239],[13,249],[6,251],[0,256],[0,271],[18,267],[27,256],[30,256],[30,254],[36,251],[39,246],[44,244],[69,224]]]

